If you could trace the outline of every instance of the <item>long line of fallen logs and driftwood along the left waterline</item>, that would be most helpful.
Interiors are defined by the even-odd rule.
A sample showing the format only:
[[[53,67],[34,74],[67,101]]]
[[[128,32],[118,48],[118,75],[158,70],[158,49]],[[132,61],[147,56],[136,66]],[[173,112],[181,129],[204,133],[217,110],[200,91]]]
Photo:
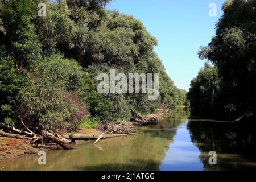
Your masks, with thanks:
[[[133,122],[129,121],[123,121],[122,123],[119,122],[106,122],[100,126],[97,127],[98,130],[104,131],[104,133],[107,134],[75,134],[73,136],[68,136],[68,140],[71,140],[71,142],[75,142],[76,140],[96,140],[97,143],[98,140],[101,138],[112,138],[112,137],[120,137],[127,134],[133,134],[135,131],[135,128],[133,125],[148,125],[151,123],[158,123],[155,118],[145,118],[141,114],[138,114],[134,110],[131,110],[131,112],[134,115]],[[30,130],[23,122],[22,117],[20,118],[20,122],[22,123],[22,126],[27,131],[22,131],[19,129],[15,129],[14,127],[11,127],[9,125],[6,125],[5,123],[0,122],[0,128],[3,128],[5,130],[9,130],[11,133],[6,133],[3,130],[0,130],[0,134],[6,137],[12,137],[12,138],[20,138],[20,139],[27,139],[30,140],[31,144],[36,144],[36,146],[39,144],[39,142],[43,143],[51,143],[54,142],[57,145],[61,146],[63,149],[71,149],[71,146],[66,138],[60,137],[53,131],[40,131],[39,134],[34,133],[32,130]],[[100,128],[99,128],[100,127]],[[13,134],[15,133],[15,134]],[[111,134],[111,135],[109,135]]]

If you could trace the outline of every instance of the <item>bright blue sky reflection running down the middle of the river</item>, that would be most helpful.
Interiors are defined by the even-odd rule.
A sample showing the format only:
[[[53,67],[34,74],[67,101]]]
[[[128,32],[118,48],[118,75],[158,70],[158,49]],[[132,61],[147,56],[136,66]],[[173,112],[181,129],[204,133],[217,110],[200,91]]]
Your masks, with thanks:
[[[170,143],[166,158],[160,165],[161,170],[203,170],[203,164],[199,160],[200,151],[191,143],[189,131],[187,130],[187,118],[189,113],[183,110],[176,111],[168,119],[170,125],[168,130],[177,130],[173,143]],[[181,122],[182,121],[182,122]]]

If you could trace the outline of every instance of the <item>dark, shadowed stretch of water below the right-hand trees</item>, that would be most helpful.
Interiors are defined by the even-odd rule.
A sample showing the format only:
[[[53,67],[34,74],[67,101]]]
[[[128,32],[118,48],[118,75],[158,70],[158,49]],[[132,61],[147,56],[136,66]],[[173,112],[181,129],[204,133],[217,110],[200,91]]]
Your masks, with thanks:
[[[189,119],[187,127],[205,169],[256,169],[254,124]],[[209,151],[217,152],[217,165],[209,165]]]

